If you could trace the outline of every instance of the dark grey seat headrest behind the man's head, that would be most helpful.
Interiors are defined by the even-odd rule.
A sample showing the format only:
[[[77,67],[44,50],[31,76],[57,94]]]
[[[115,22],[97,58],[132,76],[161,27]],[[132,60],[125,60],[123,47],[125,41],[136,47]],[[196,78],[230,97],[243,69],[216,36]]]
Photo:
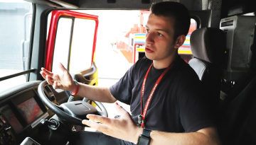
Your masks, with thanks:
[[[213,64],[223,63],[225,33],[218,28],[200,28],[191,34],[193,57]]]

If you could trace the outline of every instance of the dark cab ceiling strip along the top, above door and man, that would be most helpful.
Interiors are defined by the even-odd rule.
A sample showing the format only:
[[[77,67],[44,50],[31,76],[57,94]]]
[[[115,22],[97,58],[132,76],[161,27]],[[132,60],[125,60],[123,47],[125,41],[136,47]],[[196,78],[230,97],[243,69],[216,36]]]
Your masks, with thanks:
[[[177,1],[189,10],[202,10],[202,1],[208,0],[26,0],[35,4],[46,4],[56,8],[79,9],[149,9],[151,3]]]

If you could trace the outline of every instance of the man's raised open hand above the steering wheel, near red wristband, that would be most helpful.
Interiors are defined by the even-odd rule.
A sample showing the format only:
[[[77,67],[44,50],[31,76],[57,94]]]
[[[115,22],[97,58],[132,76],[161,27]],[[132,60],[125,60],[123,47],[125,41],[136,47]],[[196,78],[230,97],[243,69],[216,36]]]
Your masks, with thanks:
[[[66,91],[75,91],[75,82],[73,81],[73,78],[71,77],[70,73],[67,69],[63,66],[63,64],[59,63],[59,72],[53,73],[45,68],[41,68],[40,74],[43,76],[46,81],[53,86],[53,88],[60,88]]]

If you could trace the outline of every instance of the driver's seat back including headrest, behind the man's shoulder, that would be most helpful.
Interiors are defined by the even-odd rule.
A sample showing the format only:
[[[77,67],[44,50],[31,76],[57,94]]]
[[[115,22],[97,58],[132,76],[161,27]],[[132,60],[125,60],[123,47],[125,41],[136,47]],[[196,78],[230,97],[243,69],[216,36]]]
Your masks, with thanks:
[[[193,31],[191,51],[193,59],[188,64],[206,87],[209,99],[218,103],[225,55],[225,33],[218,28],[200,28]]]

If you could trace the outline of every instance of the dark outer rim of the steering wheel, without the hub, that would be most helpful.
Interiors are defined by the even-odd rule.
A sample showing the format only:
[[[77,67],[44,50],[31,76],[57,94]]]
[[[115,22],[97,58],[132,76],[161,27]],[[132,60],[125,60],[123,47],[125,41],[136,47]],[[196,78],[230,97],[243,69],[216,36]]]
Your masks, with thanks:
[[[67,112],[64,112],[63,110],[61,110],[60,106],[55,105],[54,103],[50,102],[50,100],[48,99],[48,97],[46,96],[46,94],[43,91],[43,88],[44,88],[44,86],[46,86],[46,84],[48,84],[47,81],[42,81],[38,86],[38,95],[39,95],[39,98],[41,98],[41,100],[43,101],[43,103],[50,110],[52,110],[58,117],[60,117],[62,120],[65,120],[66,122],[70,122],[72,124],[86,126],[85,124],[82,124],[82,120],[80,118],[69,115]],[[95,107],[93,107],[93,108],[95,108]],[[99,108],[100,108],[100,106],[99,106]],[[96,108],[95,108],[95,110],[96,110]],[[98,114],[102,115],[102,112],[98,111]]]

